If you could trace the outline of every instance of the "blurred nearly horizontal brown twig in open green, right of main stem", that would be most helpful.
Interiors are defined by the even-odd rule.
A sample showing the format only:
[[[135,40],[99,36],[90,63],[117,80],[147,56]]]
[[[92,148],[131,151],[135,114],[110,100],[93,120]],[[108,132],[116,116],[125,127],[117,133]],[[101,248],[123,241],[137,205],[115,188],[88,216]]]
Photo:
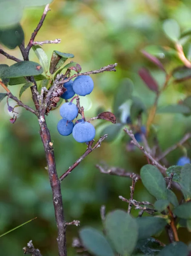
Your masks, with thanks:
[[[116,175],[120,177],[129,177],[132,178],[134,173],[126,172],[125,169],[119,167],[109,167],[105,169],[103,166],[96,165],[96,168],[100,170],[101,173],[108,174],[108,175]],[[140,179],[140,175],[136,174],[137,179]]]

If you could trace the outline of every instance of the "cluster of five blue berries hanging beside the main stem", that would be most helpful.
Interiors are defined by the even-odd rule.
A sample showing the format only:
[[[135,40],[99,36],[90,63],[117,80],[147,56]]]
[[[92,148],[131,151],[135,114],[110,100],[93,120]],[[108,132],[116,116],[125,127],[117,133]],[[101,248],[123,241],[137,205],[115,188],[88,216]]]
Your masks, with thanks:
[[[71,99],[74,94],[86,96],[90,94],[94,88],[94,82],[90,76],[78,76],[74,81],[70,80],[64,83],[66,92],[61,96],[63,99]],[[74,97],[75,98],[75,97]],[[60,115],[63,117],[58,124],[57,130],[63,136],[68,136],[72,133],[74,140],[80,143],[89,142],[95,137],[94,126],[86,122],[84,119],[79,119],[72,122],[78,116],[77,105],[70,102],[64,103],[60,108]]]

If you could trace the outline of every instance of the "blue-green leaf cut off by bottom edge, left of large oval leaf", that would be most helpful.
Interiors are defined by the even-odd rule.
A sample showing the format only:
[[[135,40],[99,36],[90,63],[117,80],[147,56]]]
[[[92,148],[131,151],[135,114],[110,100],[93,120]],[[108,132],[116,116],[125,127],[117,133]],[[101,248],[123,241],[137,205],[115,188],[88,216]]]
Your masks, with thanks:
[[[80,230],[80,239],[84,247],[96,256],[114,256],[110,244],[102,233],[91,227]]]

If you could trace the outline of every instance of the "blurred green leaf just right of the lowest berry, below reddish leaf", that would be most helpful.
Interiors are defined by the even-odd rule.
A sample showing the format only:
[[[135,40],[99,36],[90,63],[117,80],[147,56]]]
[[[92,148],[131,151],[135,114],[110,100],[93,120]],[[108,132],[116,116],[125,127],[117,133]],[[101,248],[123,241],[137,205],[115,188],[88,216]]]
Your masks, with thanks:
[[[123,127],[123,125],[120,123],[106,126],[103,129],[103,131],[101,132],[101,134],[103,134],[103,135],[108,134],[108,137],[104,141],[111,142],[111,141],[115,140],[117,138],[118,134],[120,133],[122,127]]]

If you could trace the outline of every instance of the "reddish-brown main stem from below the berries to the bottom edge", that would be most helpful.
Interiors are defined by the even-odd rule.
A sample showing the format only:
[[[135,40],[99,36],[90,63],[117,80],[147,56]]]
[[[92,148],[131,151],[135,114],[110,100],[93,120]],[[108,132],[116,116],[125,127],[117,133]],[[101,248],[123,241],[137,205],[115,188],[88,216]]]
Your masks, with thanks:
[[[58,228],[58,252],[59,256],[67,256],[66,251],[66,225],[64,220],[63,213],[63,201],[62,194],[60,189],[60,180],[57,176],[56,163],[54,158],[54,149],[51,143],[50,132],[47,128],[45,115],[39,116],[39,125],[40,125],[40,137],[43,142],[46,161],[47,161],[47,169],[49,180],[51,184],[52,194],[53,194],[53,204],[54,204],[54,212],[56,217],[56,223]]]

